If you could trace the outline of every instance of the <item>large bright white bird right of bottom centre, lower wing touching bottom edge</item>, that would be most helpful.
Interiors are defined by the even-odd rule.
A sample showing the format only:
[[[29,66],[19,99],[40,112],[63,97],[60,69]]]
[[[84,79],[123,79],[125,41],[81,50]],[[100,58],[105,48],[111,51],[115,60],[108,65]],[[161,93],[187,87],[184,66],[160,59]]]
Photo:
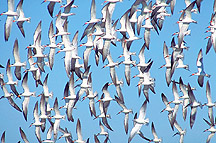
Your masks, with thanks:
[[[130,132],[130,136],[128,138],[128,143],[131,142],[133,137],[140,131],[142,125],[148,125],[149,119],[145,119],[146,115],[146,107],[147,107],[147,100],[144,101],[142,104],[140,111],[139,111],[139,117],[137,119],[134,119],[134,127],[132,128]]]

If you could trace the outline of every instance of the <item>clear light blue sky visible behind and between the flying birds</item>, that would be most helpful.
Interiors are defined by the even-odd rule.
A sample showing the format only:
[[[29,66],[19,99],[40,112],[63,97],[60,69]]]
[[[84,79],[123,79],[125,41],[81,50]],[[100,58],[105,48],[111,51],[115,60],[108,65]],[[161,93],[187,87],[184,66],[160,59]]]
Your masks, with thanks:
[[[3,0],[3,3],[0,5],[0,13],[7,11],[7,1]],[[55,18],[51,18],[48,10],[47,5],[48,3],[41,4],[42,1],[24,1],[23,3],[23,11],[25,13],[26,17],[31,17],[30,23],[24,23],[24,30],[26,37],[24,38],[21,35],[21,32],[19,31],[17,25],[13,23],[11,35],[9,37],[9,40],[7,42],[4,41],[4,23],[6,20],[6,16],[0,17],[0,63],[4,66],[6,66],[7,60],[10,58],[11,63],[14,62],[13,58],[13,44],[15,39],[18,39],[19,43],[19,52],[21,61],[27,61],[27,50],[25,48],[33,43],[33,33],[38,25],[39,21],[42,21],[42,45],[48,44],[48,28],[50,22],[53,20],[55,22]],[[65,1],[63,1],[65,3]],[[102,17],[101,15],[101,8],[103,7],[101,5],[103,1],[102,0],[96,0],[96,11],[97,11],[97,17]],[[130,8],[130,6],[133,4],[134,1],[130,0],[124,0],[121,3],[117,3],[114,13],[113,13],[113,20],[117,20],[124,14],[124,12]],[[15,0],[15,7],[18,3],[18,0]],[[154,3],[154,1],[153,1]],[[75,32],[79,30],[79,39],[83,33],[83,30],[85,26],[83,24],[90,19],[90,0],[83,0],[78,1],[75,0],[74,4],[78,5],[79,7],[76,9],[72,9],[71,11],[76,13],[76,15],[69,17],[69,24],[68,24],[68,31],[71,33],[70,38],[72,39]],[[156,34],[156,32],[151,32],[151,42],[150,42],[150,50],[145,51],[145,57],[146,60],[152,59],[154,61],[152,68],[151,68],[151,76],[156,79],[155,81],[155,91],[156,94],[153,94],[150,92],[150,103],[147,105],[147,113],[146,117],[149,118],[150,124],[149,126],[143,126],[141,131],[144,133],[144,135],[148,138],[152,138],[151,133],[151,122],[154,122],[156,132],[159,137],[163,138],[163,142],[166,143],[173,143],[173,142],[179,142],[179,136],[172,137],[172,135],[176,132],[172,131],[168,118],[167,113],[160,113],[160,111],[165,107],[161,100],[161,93],[164,93],[168,100],[173,100],[173,94],[172,89],[170,87],[167,87],[166,81],[165,81],[165,69],[158,69],[161,65],[165,63],[163,59],[163,42],[165,41],[167,43],[167,46],[170,46],[170,42],[172,40],[172,34],[176,31],[178,31],[178,25],[176,22],[178,21],[180,17],[179,11],[185,8],[184,1],[177,1],[174,14],[171,17],[166,17],[163,25],[162,31],[159,32],[159,35]],[[60,4],[56,4],[54,15],[58,13],[60,9]],[[170,13],[170,8],[167,8],[168,12]],[[210,50],[208,55],[205,54],[206,50],[206,44],[207,40],[204,38],[209,36],[209,33],[205,33],[207,30],[206,27],[209,25],[209,21],[211,18],[211,14],[213,12],[213,0],[203,1],[201,3],[201,13],[198,14],[192,14],[192,18],[197,21],[197,24],[190,24],[189,29],[191,29],[191,36],[185,37],[185,41],[187,42],[187,46],[190,48],[188,51],[184,51],[185,59],[184,63],[189,65],[190,71],[184,70],[184,69],[177,69],[173,75],[173,79],[178,80],[181,76],[184,83],[190,83],[192,87],[196,87],[196,90],[194,91],[195,97],[198,101],[201,103],[205,103],[207,101],[206,99],[206,81],[209,80],[210,86],[211,86],[211,93],[212,93],[212,101],[216,100],[215,93],[216,93],[216,77],[215,77],[215,71],[216,67],[214,66],[214,61],[216,60],[215,52],[213,48]],[[120,27],[120,24],[118,23],[117,28]],[[143,45],[143,35],[144,35],[144,29],[141,30],[141,34],[139,37],[141,37],[141,40],[136,40],[133,42],[130,51],[136,52],[137,55],[139,53],[140,48]],[[118,34],[120,36],[120,34]],[[84,38],[79,44],[86,42],[86,38]],[[58,41],[60,42],[60,38],[58,38]],[[177,38],[176,38],[177,43]],[[206,73],[211,75],[211,78],[205,79],[204,86],[201,88],[199,87],[197,83],[197,77],[189,77],[190,74],[197,72],[196,67],[196,59],[199,50],[202,48],[203,50],[203,62],[204,62],[204,68]],[[79,55],[82,57],[83,51],[85,47],[79,47]],[[114,47],[111,45],[111,55],[113,57],[114,61],[121,61],[121,59],[117,59],[119,55],[122,54],[123,50],[121,47],[121,44],[118,43],[117,47]],[[44,53],[48,54],[49,48],[45,50]],[[171,49],[169,49],[171,52]],[[62,57],[64,56],[64,53],[60,53],[58,55],[55,55],[55,62],[53,70],[51,71],[48,67],[45,68],[46,73],[42,75],[41,80],[43,81],[46,74],[49,73],[49,79],[48,79],[48,86],[49,90],[53,91],[54,98],[50,100],[50,105],[53,106],[55,97],[58,97],[59,105],[64,105],[64,101],[61,100],[63,97],[63,90],[64,86],[67,81],[69,81],[65,69],[64,69],[64,60]],[[123,60],[123,59],[122,59]],[[139,62],[139,59],[137,56],[133,56],[133,60],[136,60],[137,63]],[[80,60],[81,62],[81,60]],[[105,61],[105,64],[107,61]],[[104,65],[101,61],[99,63],[99,66],[97,67],[95,65],[94,60],[94,53],[92,52],[90,55],[89,64],[91,64],[90,71],[92,72],[92,79],[93,79],[93,89],[94,91],[97,91],[99,93],[99,97],[102,94],[102,87],[106,82],[110,82],[110,75],[109,75],[109,68],[101,69]],[[28,65],[29,66],[29,65]],[[12,72],[13,72],[12,68]],[[24,69],[22,69],[24,71]],[[120,65],[119,68],[116,69],[118,78],[124,79],[124,85],[122,87],[122,92],[125,98],[125,104],[128,108],[133,109],[133,112],[139,112],[139,109],[142,105],[142,103],[145,100],[145,97],[143,94],[141,97],[138,97],[137,92],[137,83],[138,79],[131,79],[131,85],[127,86],[125,78],[124,78],[124,65]],[[1,73],[5,74],[5,69],[0,69]],[[136,68],[132,68],[131,70],[131,77],[135,74],[138,74],[138,70]],[[23,77],[23,75],[22,75]],[[77,77],[76,77],[77,78]],[[15,79],[15,77],[14,77]],[[4,78],[5,81],[7,81],[7,77]],[[36,91],[36,94],[40,94],[42,92],[42,87],[39,86],[38,88],[34,85],[34,80],[31,77],[31,74],[29,74],[29,80],[28,85],[31,91]],[[9,89],[9,87],[8,87]],[[17,87],[18,92],[22,93],[23,89],[21,87],[21,81],[18,83]],[[115,87],[110,86],[108,88],[111,97],[114,98],[114,95],[116,95]],[[78,88],[76,89],[78,91]],[[3,95],[3,91],[0,90],[0,95]],[[182,95],[182,93],[179,93]],[[18,113],[16,110],[14,110],[9,104],[6,99],[2,99],[0,101],[0,134],[3,133],[3,131],[6,131],[6,142],[17,142],[21,139],[21,136],[19,134],[19,127],[22,127],[22,129],[25,131],[27,138],[30,142],[36,142],[37,139],[34,135],[34,127],[29,128],[28,126],[33,122],[33,109],[34,104],[36,101],[39,101],[40,98],[38,97],[31,97],[30,104],[29,104],[29,111],[28,111],[28,121],[26,122],[23,118],[22,113]],[[18,106],[22,107],[22,99],[15,99],[15,102],[18,104]],[[124,132],[124,126],[123,126],[123,120],[124,115],[116,115],[117,112],[119,112],[121,108],[118,106],[118,104],[115,101],[111,101],[111,105],[109,107],[109,114],[111,115],[112,119],[108,119],[108,122],[110,126],[113,128],[113,132],[109,131],[110,134],[110,140],[111,142],[127,142],[129,134],[126,135]],[[187,133],[185,135],[184,141],[185,142],[205,142],[209,133],[203,133],[203,130],[208,128],[208,125],[203,121],[203,118],[208,120],[208,112],[207,107],[204,107],[203,109],[198,108],[197,117],[195,124],[193,126],[193,129],[190,129],[189,126],[189,117],[190,117],[190,109],[188,109],[187,119],[186,121],[182,118],[182,111],[181,107],[179,108],[178,114],[177,114],[177,121],[180,124],[180,126],[187,130]],[[65,110],[61,110],[61,113],[64,114]],[[96,104],[96,113],[99,113],[98,104]],[[215,112],[214,112],[215,113]],[[67,127],[68,130],[72,133],[73,139],[77,138],[76,135],[76,122],[79,118],[81,121],[82,126],[82,134],[83,138],[87,139],[90,138],[90,142],[93,142],[93,135],[100,132],[100,128],[98,126],[99,120],[93,120],[93,118],[90,116],[89,109],[88,109],[88,100],[85,100],[83,102],[78,102],[77,104],[77,110],[73,111],[73,115],[75,118],[75,122],[68,122],[67,120],[61,121],[61,127]],[[133,119],[134,115],[130,114],[129,117],[129,132],[131,131],[133,127]],[[54,120],[53,120],[54,121]],[[48,129],[48,128],[47,128]],[[47,131],[46,129],[46,131]],[[61,133],[59,133],[60,135]],[[42,139],[46,138],[46,132],[41,133]],[[104,137],[99,137],[101,142],[105,139]],[[216,137],[213,137],[211,142],[215,142]],[[63,139],[57,141],[57,142],[63,142]],[[138,135],[134,137],[132,142],[143,142],[143,139],[141,139]]]

